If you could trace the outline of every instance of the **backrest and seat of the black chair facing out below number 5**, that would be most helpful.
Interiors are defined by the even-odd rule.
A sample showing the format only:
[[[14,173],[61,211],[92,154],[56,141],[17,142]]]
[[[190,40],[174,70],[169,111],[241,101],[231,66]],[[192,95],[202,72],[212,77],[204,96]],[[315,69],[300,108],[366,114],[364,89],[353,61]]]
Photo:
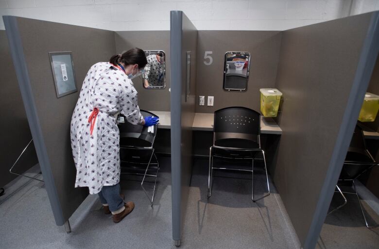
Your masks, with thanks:
[[[259,148],[260,114],[245,107],[228,107],[214,113],[213,145]]]

